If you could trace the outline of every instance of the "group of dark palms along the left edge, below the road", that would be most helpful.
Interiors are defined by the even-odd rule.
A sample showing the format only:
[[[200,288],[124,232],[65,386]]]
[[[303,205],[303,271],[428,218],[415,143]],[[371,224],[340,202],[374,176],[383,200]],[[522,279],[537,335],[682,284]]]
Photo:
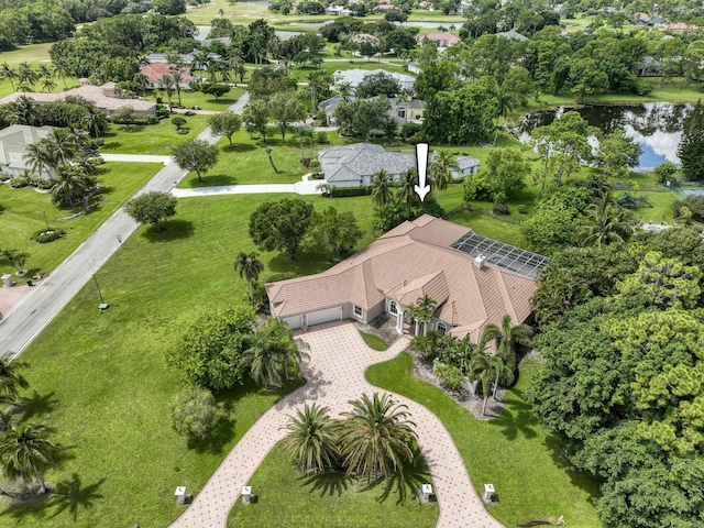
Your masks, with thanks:
[[[26,424],[21,389],[30,384],[20,370],[28,365],[0,358],[0,471],[9,480],[38,483],[46,493],[43,470],[54,465],[62,448],[48,439],[55,430],[44,424]],[[0,494],[6,494],[0,490]]]

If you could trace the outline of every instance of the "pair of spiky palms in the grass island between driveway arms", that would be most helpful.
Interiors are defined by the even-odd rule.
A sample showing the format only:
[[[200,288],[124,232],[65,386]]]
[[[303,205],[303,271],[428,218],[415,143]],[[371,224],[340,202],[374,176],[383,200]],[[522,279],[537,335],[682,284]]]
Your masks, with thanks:
[[[306,404],[289,417],[284,450],[305,472],[344,470],[367,481],[402,474],[414,463],[417,436],[408,408],[388,394],[363,394],[333,420],[328,407]]]

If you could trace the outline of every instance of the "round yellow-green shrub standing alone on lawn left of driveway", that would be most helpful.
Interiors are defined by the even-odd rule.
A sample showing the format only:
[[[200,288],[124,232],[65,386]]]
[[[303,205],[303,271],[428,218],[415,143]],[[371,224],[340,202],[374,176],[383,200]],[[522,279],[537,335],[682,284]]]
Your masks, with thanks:
[[[176,395],[170,410],[174,430],[189,439],[204,440],[224,418],[222,406],[210,391],[199,387],[188,387]]]

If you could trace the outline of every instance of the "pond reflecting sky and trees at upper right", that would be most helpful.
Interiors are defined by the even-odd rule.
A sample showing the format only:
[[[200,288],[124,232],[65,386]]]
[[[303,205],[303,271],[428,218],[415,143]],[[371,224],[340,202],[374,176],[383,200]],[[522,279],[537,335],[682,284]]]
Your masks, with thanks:
[[[550,124],[557,117],[569,110],[578,111],[592,127],[604,133],[623,129],[641,147],[638,168],[652,168],[664,162],[680,163],[678,145],[682,138],[684,118],[691,105],[670,102],[646,102],[641,105],[585,105],[580,108],[560,107],[538,110],[525,114],[510,132],[521,142],[530,141],[530,131],[536,127]],[[596,139],[592,139],[596,145]]]

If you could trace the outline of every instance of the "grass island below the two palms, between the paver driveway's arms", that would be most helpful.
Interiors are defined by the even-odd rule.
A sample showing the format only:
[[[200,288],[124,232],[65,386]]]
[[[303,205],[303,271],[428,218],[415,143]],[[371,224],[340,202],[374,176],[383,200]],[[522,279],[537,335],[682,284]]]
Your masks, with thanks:
[[[406,482],[399,490],[397,481],[389,487],[383,479],[367,484],[343,474],[306,475],[277,446],[249,482],[257,504],[238,502],[228,527],[430,528],[438,521],[438,505],[421,506],[415,498],[415,491],[431,482],[422,457],[417,464],[417,469],[405,469]]]

